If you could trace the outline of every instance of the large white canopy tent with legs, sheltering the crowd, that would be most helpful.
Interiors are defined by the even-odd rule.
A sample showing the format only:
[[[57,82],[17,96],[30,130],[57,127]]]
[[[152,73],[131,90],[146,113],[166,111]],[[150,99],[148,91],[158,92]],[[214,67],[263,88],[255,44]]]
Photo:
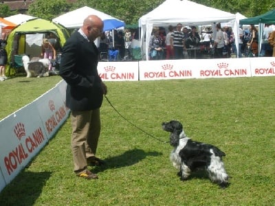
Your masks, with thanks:
[[[213,25],[214,23],[228,21],[234,21],[233,32],[239,36],[239,22],[236,21],[235,14],[209,8],[206,5],[188,0],[166,0],[155,10],[148,12],[148,14],[139,19],[142,43],[146,34],[146,59],[148,60],[149,37],[153,26],[176,25],[177,23],[184,25]]]

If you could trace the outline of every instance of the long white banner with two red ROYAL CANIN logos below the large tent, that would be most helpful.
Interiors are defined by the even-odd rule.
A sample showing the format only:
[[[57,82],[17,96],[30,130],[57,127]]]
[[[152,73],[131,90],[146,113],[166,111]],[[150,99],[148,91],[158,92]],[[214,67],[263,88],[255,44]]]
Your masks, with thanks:
[[[140,62],[140,80],[250,77],[250,58]]]

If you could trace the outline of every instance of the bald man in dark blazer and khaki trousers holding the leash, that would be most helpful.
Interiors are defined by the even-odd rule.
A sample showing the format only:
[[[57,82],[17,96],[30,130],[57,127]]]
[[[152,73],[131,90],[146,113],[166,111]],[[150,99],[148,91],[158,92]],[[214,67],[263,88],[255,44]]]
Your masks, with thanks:
[[[99,51],[94,41],[102,34],[103,21],[89,15],[83,26],[63,46],[60,76],[67,82],[66,106],[71,109],[74,172],[84,179],[98,179],[88,170],[102,165],[96,157],[100,137],[100,106],[107,87],[98,75]]]

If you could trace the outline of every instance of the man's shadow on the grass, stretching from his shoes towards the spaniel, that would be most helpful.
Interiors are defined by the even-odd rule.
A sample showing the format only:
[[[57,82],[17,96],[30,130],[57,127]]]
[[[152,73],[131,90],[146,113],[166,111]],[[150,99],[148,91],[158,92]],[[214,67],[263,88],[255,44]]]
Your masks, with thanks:
[[[96,168],[93,169],[93,172],[97,173],[112,168],[131,166],[148,156],[157,157],[159,155],[162,155],[162,152],[145,152],[144,150],[135,148],[133,150],[128,150],[121,155],[104,159],[105,164],[96,166]]]

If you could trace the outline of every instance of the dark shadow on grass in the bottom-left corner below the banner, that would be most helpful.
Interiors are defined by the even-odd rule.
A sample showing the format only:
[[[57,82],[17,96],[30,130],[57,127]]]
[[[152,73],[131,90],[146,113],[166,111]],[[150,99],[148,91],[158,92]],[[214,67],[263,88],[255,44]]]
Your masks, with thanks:
[[[34,205],[52,172],[21,172],[0,193],[0,205]]]

